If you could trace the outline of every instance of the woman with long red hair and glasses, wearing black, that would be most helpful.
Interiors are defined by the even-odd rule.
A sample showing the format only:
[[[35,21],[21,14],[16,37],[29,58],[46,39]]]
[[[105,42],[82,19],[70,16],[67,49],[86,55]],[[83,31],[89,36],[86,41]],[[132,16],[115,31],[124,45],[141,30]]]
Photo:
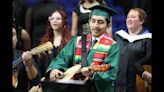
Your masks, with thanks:
[[[46,30],[46,33],[41,38],[40,44],[50,41],[53,44],[53,50],[52,53],[41,54],[40,57],[35,57],[42,77],[45,77],[46,69],[52,59],[57,56],[72,38],[68,25],[68,16],[63,9],[54,10],[48,18],[47,27],[49,29]]]

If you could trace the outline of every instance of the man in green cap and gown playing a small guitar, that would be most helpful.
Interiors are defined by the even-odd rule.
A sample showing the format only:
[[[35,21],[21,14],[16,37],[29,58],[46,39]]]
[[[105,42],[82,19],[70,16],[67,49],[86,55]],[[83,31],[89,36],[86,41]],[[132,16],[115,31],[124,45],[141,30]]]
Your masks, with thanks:
[[[92,7],[91,10],[89,18],[91,34],[86,36],[87,66],[107,64],[111,65],[111,68],[105,72],[92,72],[88,67],[82,67],[81,72],[84,76],[89,77],[97,92],[114,92],[114,81],[119,64],[119,46],[106,33],[106,30],[110,23],[110,16],[116,12],[100,5]],[[96,41],[96,43],[91,44],[92,41]],[[74,37],[49,65],[47,74],[50,73],[50,80],[56,80],[69,67],[83,63],[81,50],[81,36]]]

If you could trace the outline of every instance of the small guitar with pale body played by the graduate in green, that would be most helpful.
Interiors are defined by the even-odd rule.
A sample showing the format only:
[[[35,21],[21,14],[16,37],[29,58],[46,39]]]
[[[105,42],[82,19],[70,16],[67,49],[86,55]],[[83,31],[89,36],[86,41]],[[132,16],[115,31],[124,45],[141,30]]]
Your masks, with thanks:
[[[92,72],[106,72],[111,68],[110,64],[103,64],[103,65],[96,65],[96,66],[90,66],[88,67],[90,71]],[[81,65],[77,64],[64,72],[63,75],[60,76],[61,80],[71,80],[75,79],[73,78],[76,74],[81,73]]]

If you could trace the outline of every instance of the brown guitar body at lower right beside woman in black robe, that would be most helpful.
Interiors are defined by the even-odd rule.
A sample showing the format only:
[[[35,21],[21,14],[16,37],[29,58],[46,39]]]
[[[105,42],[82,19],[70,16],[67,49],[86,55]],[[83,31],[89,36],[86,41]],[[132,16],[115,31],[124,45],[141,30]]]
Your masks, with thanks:
[[[144,69],[150,73],[152,73],[152,67],[150,65],[144,65]],[[136,76],[136,88],[137,92],[152,92],[152,85],[148,83],[148,91],[145,88],[145,81],[139,76]]]

